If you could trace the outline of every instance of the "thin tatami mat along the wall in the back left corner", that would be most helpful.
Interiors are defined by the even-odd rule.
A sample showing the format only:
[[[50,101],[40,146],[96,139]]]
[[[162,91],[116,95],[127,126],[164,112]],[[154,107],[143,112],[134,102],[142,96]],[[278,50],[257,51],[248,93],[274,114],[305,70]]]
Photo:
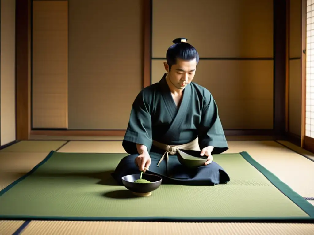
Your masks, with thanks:
[[[56,150],[65,144],[66,141],[33,141],[25,140],[12,144],[11,146],[1,149],[0,152],[19,152],[19,153],[38,153],[38,152],[50,152]]]

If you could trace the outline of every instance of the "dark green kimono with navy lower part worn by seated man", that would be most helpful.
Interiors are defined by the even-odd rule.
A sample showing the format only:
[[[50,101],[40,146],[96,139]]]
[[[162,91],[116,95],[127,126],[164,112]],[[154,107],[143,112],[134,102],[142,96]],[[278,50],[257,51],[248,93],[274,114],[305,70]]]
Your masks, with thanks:
[[[184,91],[181,105],[177,108],[165,80],[144,88],[133,102],[127,131],[122,146],[128,154],[112,176],[122,185],[121,177],[139,174],[134,160],[139,155],[136,144],[145,145],[152,163],[146,173],[160,175],[165,184],[215,185],[228,182],[229,176],[217,163],[188,169],[181,165],[176,155],[169,155],[157,166],[164,150],[156,148],[153,140],[168,144],[186,144],[198,137],[200,149],[214,146],[212,154],[228,149],[218,108],[211,93],[191,82]]]

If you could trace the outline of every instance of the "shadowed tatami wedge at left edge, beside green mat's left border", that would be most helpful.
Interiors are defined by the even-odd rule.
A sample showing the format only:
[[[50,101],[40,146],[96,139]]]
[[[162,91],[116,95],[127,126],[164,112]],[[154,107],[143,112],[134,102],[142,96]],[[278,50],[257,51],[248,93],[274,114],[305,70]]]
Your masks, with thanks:
[[[40,163],[46,153],[3,153],[0,152],[0,190],[18,180],[25,172]],[[1,233],[0,233],[1,234]]]

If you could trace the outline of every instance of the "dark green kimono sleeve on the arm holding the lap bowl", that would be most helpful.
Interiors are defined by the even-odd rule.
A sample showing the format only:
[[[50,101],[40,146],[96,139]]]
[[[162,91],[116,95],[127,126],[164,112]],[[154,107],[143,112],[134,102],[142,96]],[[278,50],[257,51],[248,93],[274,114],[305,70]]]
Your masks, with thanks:
[[[218,115],[217,104],[211,93],[205,92],[201,123],[198,127],[200,149],[214,146],[212,154],[220,154],[228,150],[224,129]]]

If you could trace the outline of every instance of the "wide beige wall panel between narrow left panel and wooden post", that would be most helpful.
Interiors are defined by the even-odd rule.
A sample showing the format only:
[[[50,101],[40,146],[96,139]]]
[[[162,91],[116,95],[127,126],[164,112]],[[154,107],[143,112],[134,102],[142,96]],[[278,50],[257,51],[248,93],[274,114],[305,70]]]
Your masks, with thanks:
[[[141,0],[69,6],[69,129],[126,129],[143,80]]]

